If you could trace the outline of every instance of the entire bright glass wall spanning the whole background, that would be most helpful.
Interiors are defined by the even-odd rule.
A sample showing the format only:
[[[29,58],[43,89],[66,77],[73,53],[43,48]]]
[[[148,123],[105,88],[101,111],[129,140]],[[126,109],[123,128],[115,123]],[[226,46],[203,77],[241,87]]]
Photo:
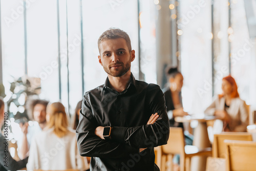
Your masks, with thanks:
[[[222,92],[221,81],[229,70],[237,80],[241,98],[253,105],[256,100],[249,92],[256,82],[252,74],[255,44],[248,36],[243,1],[169,3],[171,16],[166,19],[177,19],[178,24],[178,31],[170,30],[175,35],[169,38],[178,37],[178,51],[171,55],[178,56],[176,62],[184,76],[184,109],[203,113],[212,97]],[[27,70],[27,76],[41,80],[40,98],[61,101],[73,114],[84,92],[104,83],[106,73],[98,63],[97,40],[110,27],[130,35],[136,52],[134,76],[139,79],[141,72],[142,80],[159,83],[156,15],[161,8],[157,4],[158,0],[26,0],[25,10],[22,1],[1,0],[3,82],[7,95],[13,77],[24,76]]]

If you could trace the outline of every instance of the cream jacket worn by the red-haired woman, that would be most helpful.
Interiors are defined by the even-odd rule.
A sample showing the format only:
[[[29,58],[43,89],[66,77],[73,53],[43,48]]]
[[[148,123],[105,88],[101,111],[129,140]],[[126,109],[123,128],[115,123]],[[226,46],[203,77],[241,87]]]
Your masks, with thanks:
[[[214,102],[204,111],[205,115],[213,116],[216,110],[225,110],[225,98],[216,98]],[[231,132],[246,132],[248,125],[248,108],[244,100],[232,98],[226,111],[231,118],[229,128]]]

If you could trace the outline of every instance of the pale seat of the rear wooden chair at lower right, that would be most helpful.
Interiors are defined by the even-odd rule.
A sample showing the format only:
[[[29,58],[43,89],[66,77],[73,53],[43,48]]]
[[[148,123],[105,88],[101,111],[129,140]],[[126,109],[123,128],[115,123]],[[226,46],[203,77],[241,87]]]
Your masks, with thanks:
[[[207,157],[206,171],[226,171],[226,159]]]

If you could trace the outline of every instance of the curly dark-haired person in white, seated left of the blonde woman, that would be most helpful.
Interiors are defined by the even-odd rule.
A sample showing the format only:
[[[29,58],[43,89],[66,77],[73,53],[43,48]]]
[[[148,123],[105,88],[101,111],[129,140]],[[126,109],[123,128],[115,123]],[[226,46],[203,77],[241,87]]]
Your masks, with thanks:
[[[48,103],[49,101],[40,99],[30,101],[28,115],[33,122],[30,125],[28,122],[24,124],[20,123],[23,132],[22,142],[18,145],[20,158],[28,155],[32,138],[46,127],[46,107]]]

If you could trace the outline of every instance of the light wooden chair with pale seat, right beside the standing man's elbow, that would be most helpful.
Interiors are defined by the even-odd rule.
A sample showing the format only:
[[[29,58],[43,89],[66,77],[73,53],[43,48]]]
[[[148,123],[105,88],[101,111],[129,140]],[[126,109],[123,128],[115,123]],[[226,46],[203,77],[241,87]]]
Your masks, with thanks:
[[[166,145],[162,145],[161,171],[173,168],[173,157],[180,155],[180,170],[190,170],[190,159],[193,156],[210,156],[211,148],[198,149],[194,145],[185,145],[184,134],[181,127],[170,127],[169,139]]]

